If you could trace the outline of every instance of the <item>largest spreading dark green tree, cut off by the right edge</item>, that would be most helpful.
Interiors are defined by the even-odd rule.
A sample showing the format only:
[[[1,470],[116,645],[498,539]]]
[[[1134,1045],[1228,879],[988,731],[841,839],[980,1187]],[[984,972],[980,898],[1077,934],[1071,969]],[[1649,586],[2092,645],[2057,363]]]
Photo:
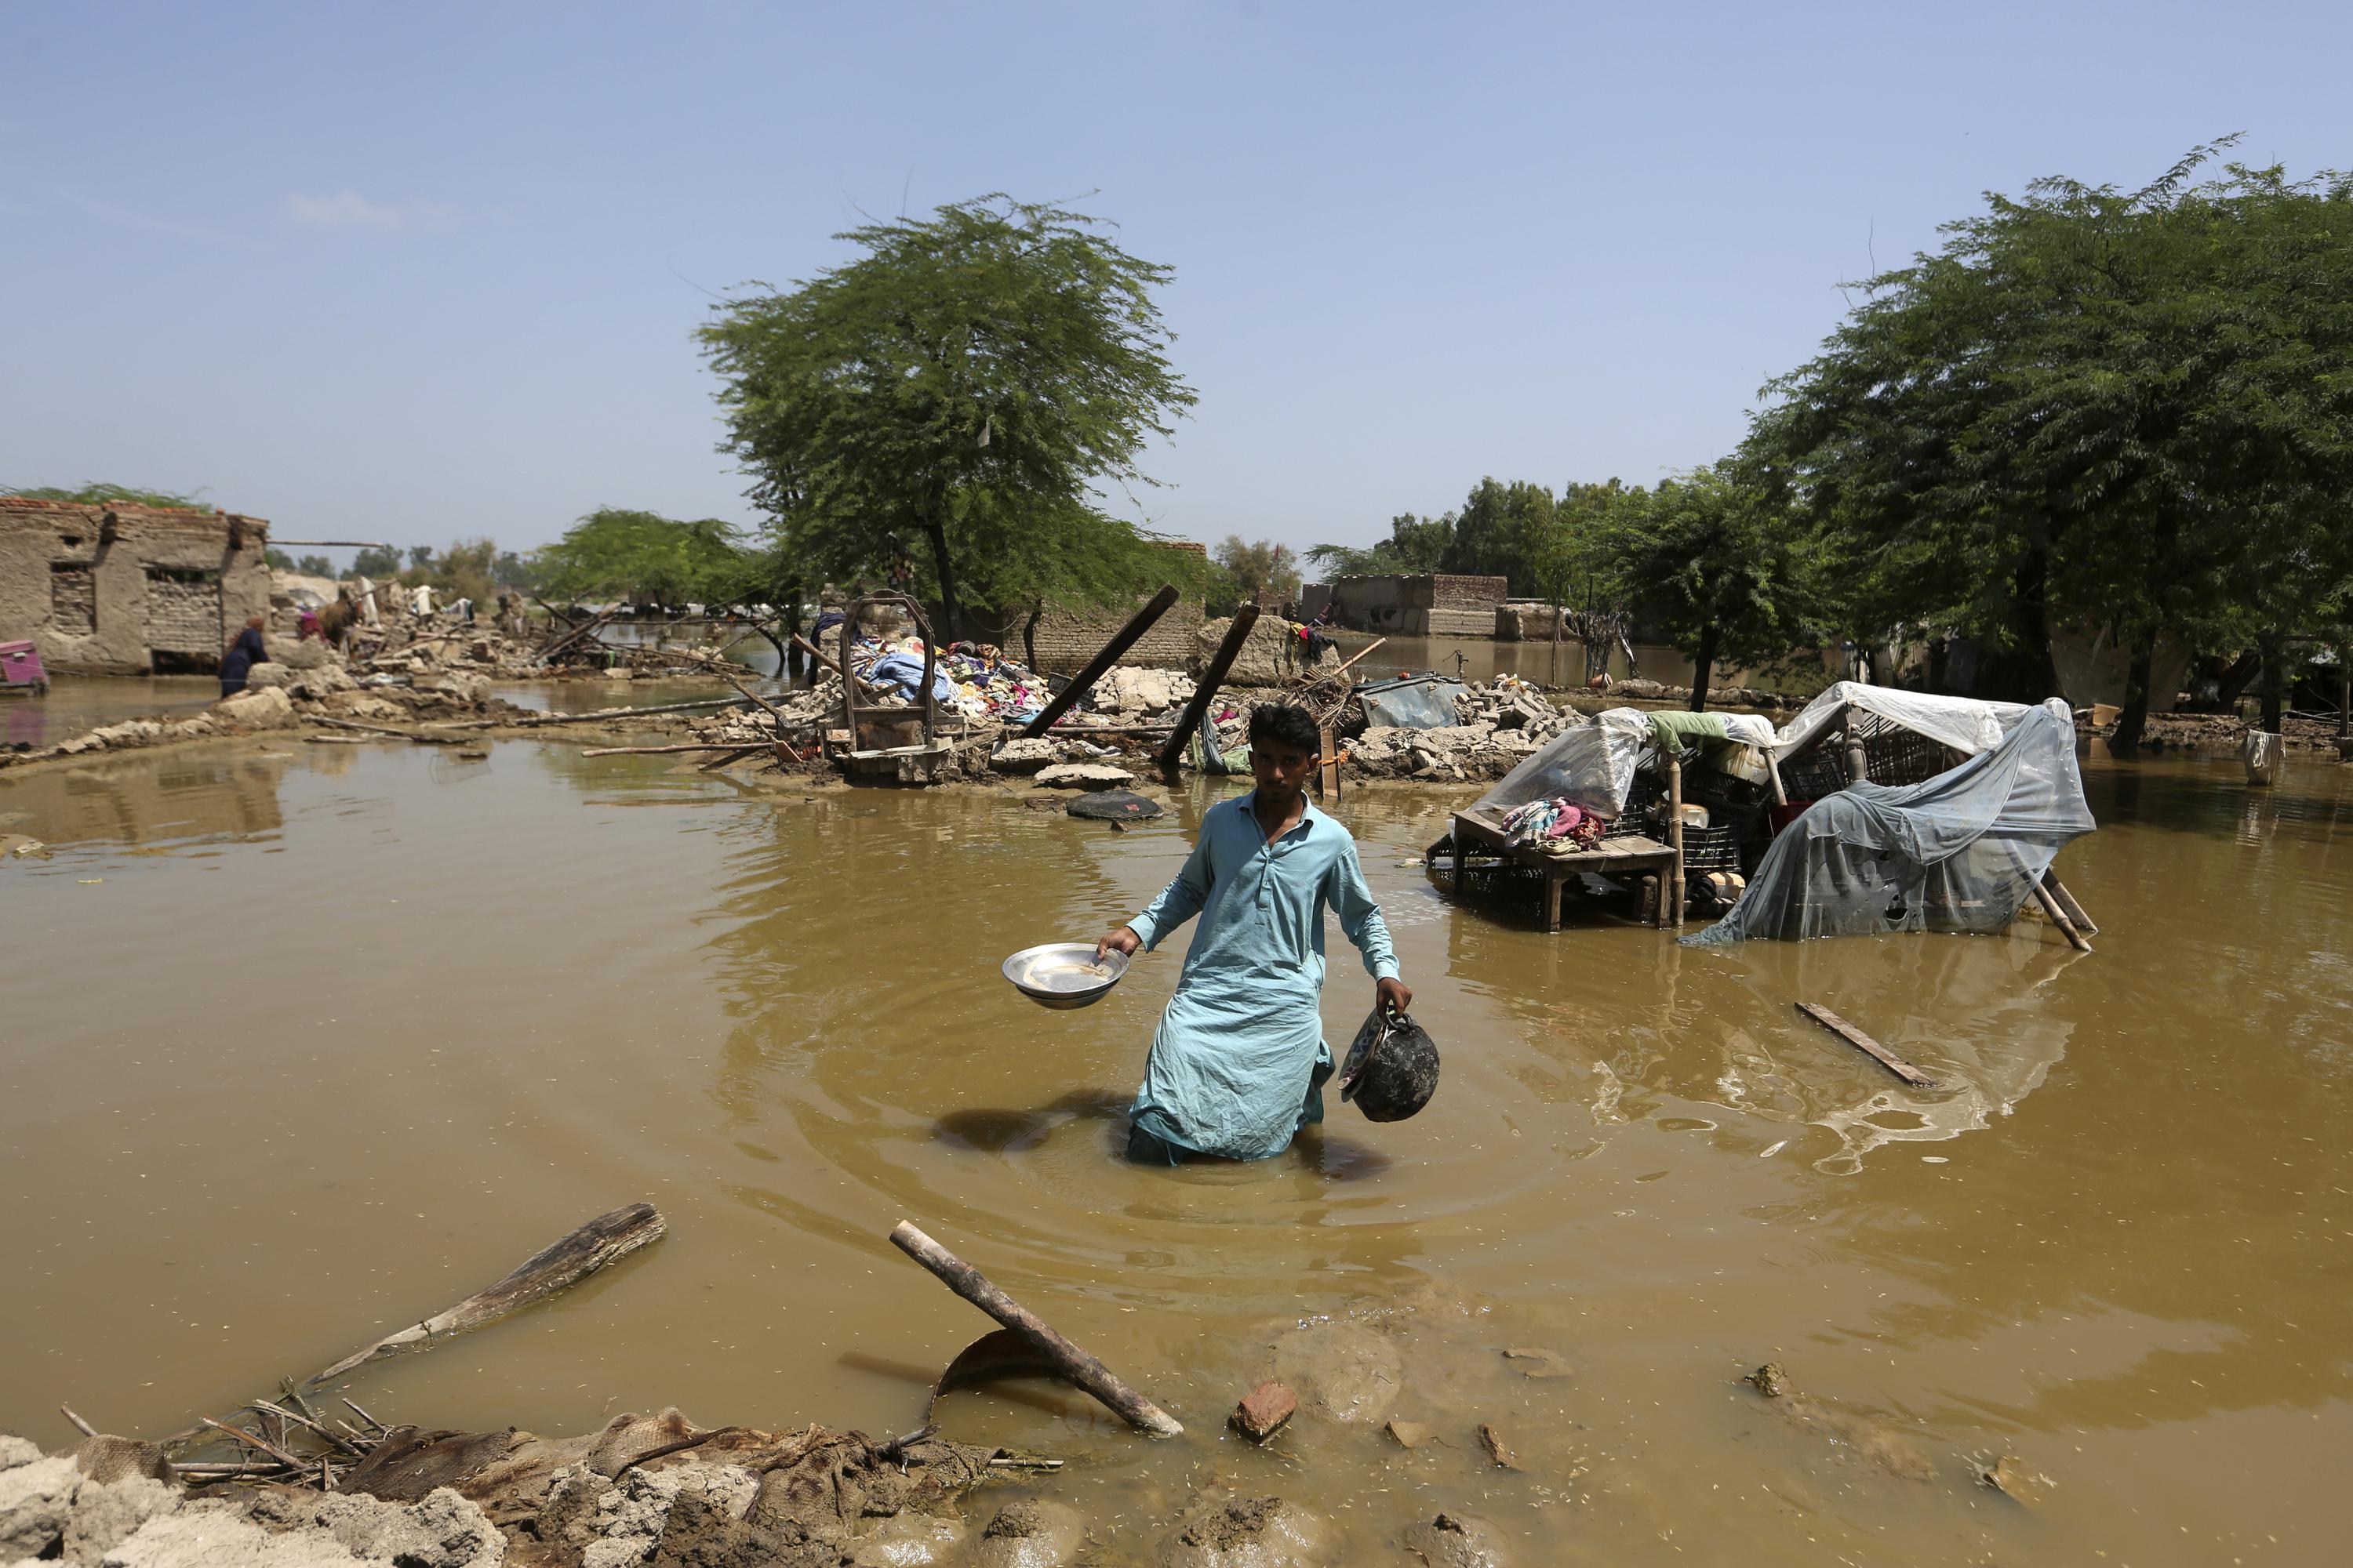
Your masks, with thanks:
[[[2341,618],[2353,181],[2228,165],[2193,188],[2214,150],[2137,193],[1988,195],[1767,388],[1746,451],[1826,527],[1859,637],[1965,632],[1984,693],[2040,701],[2052,632],[2108,630],[2129,745],[2160,628],[2278,670]]]

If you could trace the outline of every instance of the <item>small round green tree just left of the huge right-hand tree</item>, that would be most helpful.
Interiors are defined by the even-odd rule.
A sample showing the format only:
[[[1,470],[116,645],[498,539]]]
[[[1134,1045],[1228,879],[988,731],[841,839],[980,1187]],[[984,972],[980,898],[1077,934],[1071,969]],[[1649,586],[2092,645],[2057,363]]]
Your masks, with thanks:
[[[1765,665],[1814,637],[1817,538],[1737,465],[1626,491],[1605,517],[1612,590],[1692,661],[1692,712],[1718,663]]]

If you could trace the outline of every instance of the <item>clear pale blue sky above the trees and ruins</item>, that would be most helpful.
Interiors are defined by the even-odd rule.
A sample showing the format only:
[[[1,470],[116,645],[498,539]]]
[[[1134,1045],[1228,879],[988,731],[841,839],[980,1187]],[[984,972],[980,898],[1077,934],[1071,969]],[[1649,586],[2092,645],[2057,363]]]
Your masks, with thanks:
[[[2353,7],[0,5],[0,484],[285,538],[751,522],[689,341],[1009,190],[1176,268],[1148,517],[1362,543],[1720,456],[2038,174],[2353,162]]]

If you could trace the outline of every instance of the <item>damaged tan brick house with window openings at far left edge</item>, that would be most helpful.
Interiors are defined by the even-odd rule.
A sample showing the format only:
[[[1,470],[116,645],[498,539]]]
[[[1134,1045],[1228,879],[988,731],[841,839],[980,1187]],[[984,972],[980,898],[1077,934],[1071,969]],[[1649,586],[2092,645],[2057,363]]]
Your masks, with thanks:
[[[0,642],[52,675],[198,675],[271,609],[268,522],[0,496]]]

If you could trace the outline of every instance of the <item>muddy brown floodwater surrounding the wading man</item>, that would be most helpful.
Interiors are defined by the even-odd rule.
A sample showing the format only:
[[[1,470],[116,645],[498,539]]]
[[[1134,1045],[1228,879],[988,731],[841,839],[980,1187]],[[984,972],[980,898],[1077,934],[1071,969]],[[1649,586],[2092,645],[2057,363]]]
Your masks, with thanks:
[[[2233,762],[2087,759],[2104,827],[2061,870],[2092,957],[2031,926],[1546,938],[1409,865],[1445,797],[1353,797],[1445,1084],[1407,1124],[1334,1105],[1282,1159],[1167,1173],[1113,1152],[1179,950],[1075,1013],[998,961],[1139,907],[1207,797],[1115,835],[666,762],[245,743],[0,780],[0,830],[54,846],[0,863],[0,1422],[176,1429],[652,1199],[661,1246],[353,1394],[904,1432],[988,1328],[887,1246],[911,1218],[1186,1422],[1139,1439],[1040,1382],[941,1403],[951,1436],[1073,1458],[1049,1490],[1108,1561],[1209,1483],[1320,1509],[1348,1561],[1438,1509],[1522,1563],[2344,1549],[2334,766],[2249,792]],[[1346,1041],[1369,983],[1334,950]],[[1224,1415],[1285,1333],[1308,1399],[1254,1450]],[[1741,1382],[1762,1361],[1802,1403]],[[2028,1505],[1972,1483],[2002,1455],[2047,1479]]]

